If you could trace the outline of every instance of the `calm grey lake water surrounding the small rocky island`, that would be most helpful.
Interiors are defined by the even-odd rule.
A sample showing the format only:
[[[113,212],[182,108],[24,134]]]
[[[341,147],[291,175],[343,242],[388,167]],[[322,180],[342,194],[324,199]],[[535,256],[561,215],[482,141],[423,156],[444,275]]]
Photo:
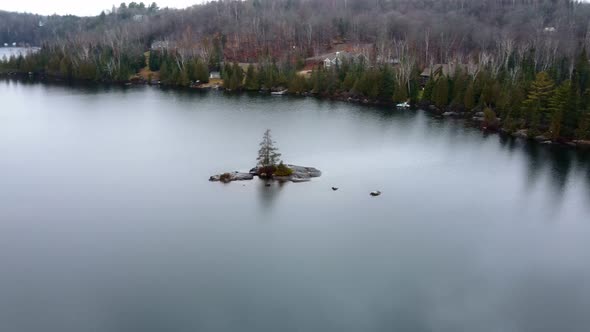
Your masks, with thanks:
[[[0,100],[0,331],[590,330],[588,155],[314,99]],[[266,128],[324,175],[207,181]]]

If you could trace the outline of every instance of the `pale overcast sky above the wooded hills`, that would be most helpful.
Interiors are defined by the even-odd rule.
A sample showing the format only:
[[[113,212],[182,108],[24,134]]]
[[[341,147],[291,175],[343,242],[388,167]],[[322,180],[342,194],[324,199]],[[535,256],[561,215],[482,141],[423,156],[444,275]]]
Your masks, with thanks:
[[[147,5],[154,0],[143,0]],[[98,15],[101,10],[111,9],[113,4],[117,7],[121,2],[132,0],[1,0],[0,10],[28,12],[41,15],[73,14],[80,16]],[[142,2],[142,0],[135,0]],[[160,7],[185,8],[202,2],[201,0],[156,0]]]

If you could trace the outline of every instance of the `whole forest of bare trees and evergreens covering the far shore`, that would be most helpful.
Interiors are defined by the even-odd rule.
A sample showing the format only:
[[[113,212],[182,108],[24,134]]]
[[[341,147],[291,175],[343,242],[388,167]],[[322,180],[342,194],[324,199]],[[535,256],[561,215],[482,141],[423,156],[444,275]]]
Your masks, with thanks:
[[[144,80],[178,86],[220,71],[231,91],[409,101],[488,129],[587,140],[589,19],[590,4],[572,0],[224,0],[186,9],[122,3],[94,17],[0,12],[0,43],[41,46],[3,59],[0,71],[126,82],[147,70]],[[322,62],[328,54],[331,66]]]

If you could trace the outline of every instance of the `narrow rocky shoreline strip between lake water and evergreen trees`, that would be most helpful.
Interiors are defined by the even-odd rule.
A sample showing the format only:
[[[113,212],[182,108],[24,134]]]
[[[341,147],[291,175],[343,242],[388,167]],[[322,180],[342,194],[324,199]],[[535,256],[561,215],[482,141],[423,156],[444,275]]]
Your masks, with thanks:
[[[54,75],[47,75],[47,74],[39,74],[39,73],[22,73],[16,71],[8,71],[8,72],[0,72],[0,79],[17,79],[17,80],[31,80],[38,83],[54,83],[54,84],[66,84],[70,86],[76,85],[83,85],[83,86],[119,86],[119,87],[126,87],[126,86],[151,86],[151,87],[162,87],[166,89],[174,89],[174,90],[185,90],[185,91],[219,91],[227,94],[239,95],[239,94],[259,94],[259,95],[266,95],[271,96],[272,90],[265,90],[265,91],[248,91],[248,90],[238,90],[238,91],[228,91],[227,89],[223,88],[222,86],[211,86],[205,84],[206,86],[179,86],[174,84],[152,84],[144,80],[127,80],[127,81],[95,81],[95,80],[82,80],[82,79],[64,79]],[[480,116],[478,116],[479,112],[473,111],[464,111],[464,110],[454,110],[452,108],[446,109],[438,109],[433,104],[428,102],[418,102],[416,104],[411,105],[410,108],[407,109],[399,109],[396,107],[396,103],[391,101],[383,101],[383,100],[371,100],[368,98],[356,98],[352,97],[347,94],[336,94],[336,95],[321,95],[312,92],[304,92],[304,93],[290,93],[285,92],[280,96],[276,97],[300,97],[300,98],[316,98],[318,100],[331,100],[331,101],[338,101],[338,102],[345,102],[351,103],[355,105],[361,106],[372,106],[372,107],[383,107],[383,108],[390,108],[392,112],[399,112],[399,111],[418,111],[422,110],[431,116],[438,118],[438,119],[449,119],[449,120],[462,120],[464,121],[465,125],[479,129],[482,133],[494,133],[504,137],[510,137],[514,139],[522,139],[526,140],[531,143],[539,144],[539,145],[546,145],[546,146],[556,146],[562,148],[570,148],[576,150],[587,150],[590,149],[590,140],[572,140],[566,138],[559,138],[556,140],[552,140],[550,138],[544,137],[539,135],[537,137],[529,137],[526,132],[528,129],[520,129],[515,132],[509,132],[505,130],[501,126],[496,126],[495,128],[488,128],[483,125],[483,121]],[[475,120],[477,119],[477,120]]]

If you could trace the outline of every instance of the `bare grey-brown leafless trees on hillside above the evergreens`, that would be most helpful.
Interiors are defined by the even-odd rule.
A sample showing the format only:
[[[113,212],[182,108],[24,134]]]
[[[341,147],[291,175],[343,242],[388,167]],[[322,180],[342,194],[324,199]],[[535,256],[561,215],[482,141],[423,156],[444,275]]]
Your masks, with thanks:
[[[224,59],[239,62],[308,57],[346,42],[367,46],[377,62],[409,52],[420,66],[535,49],[547,67],[589,46],[588,17],[590,4],[573,0],[224,0],[184,10],[133,2],[83,18],[0,12],[0,42],[96,44],[125,33],[144,48],[167,40],[203,56],[221,46]]]

